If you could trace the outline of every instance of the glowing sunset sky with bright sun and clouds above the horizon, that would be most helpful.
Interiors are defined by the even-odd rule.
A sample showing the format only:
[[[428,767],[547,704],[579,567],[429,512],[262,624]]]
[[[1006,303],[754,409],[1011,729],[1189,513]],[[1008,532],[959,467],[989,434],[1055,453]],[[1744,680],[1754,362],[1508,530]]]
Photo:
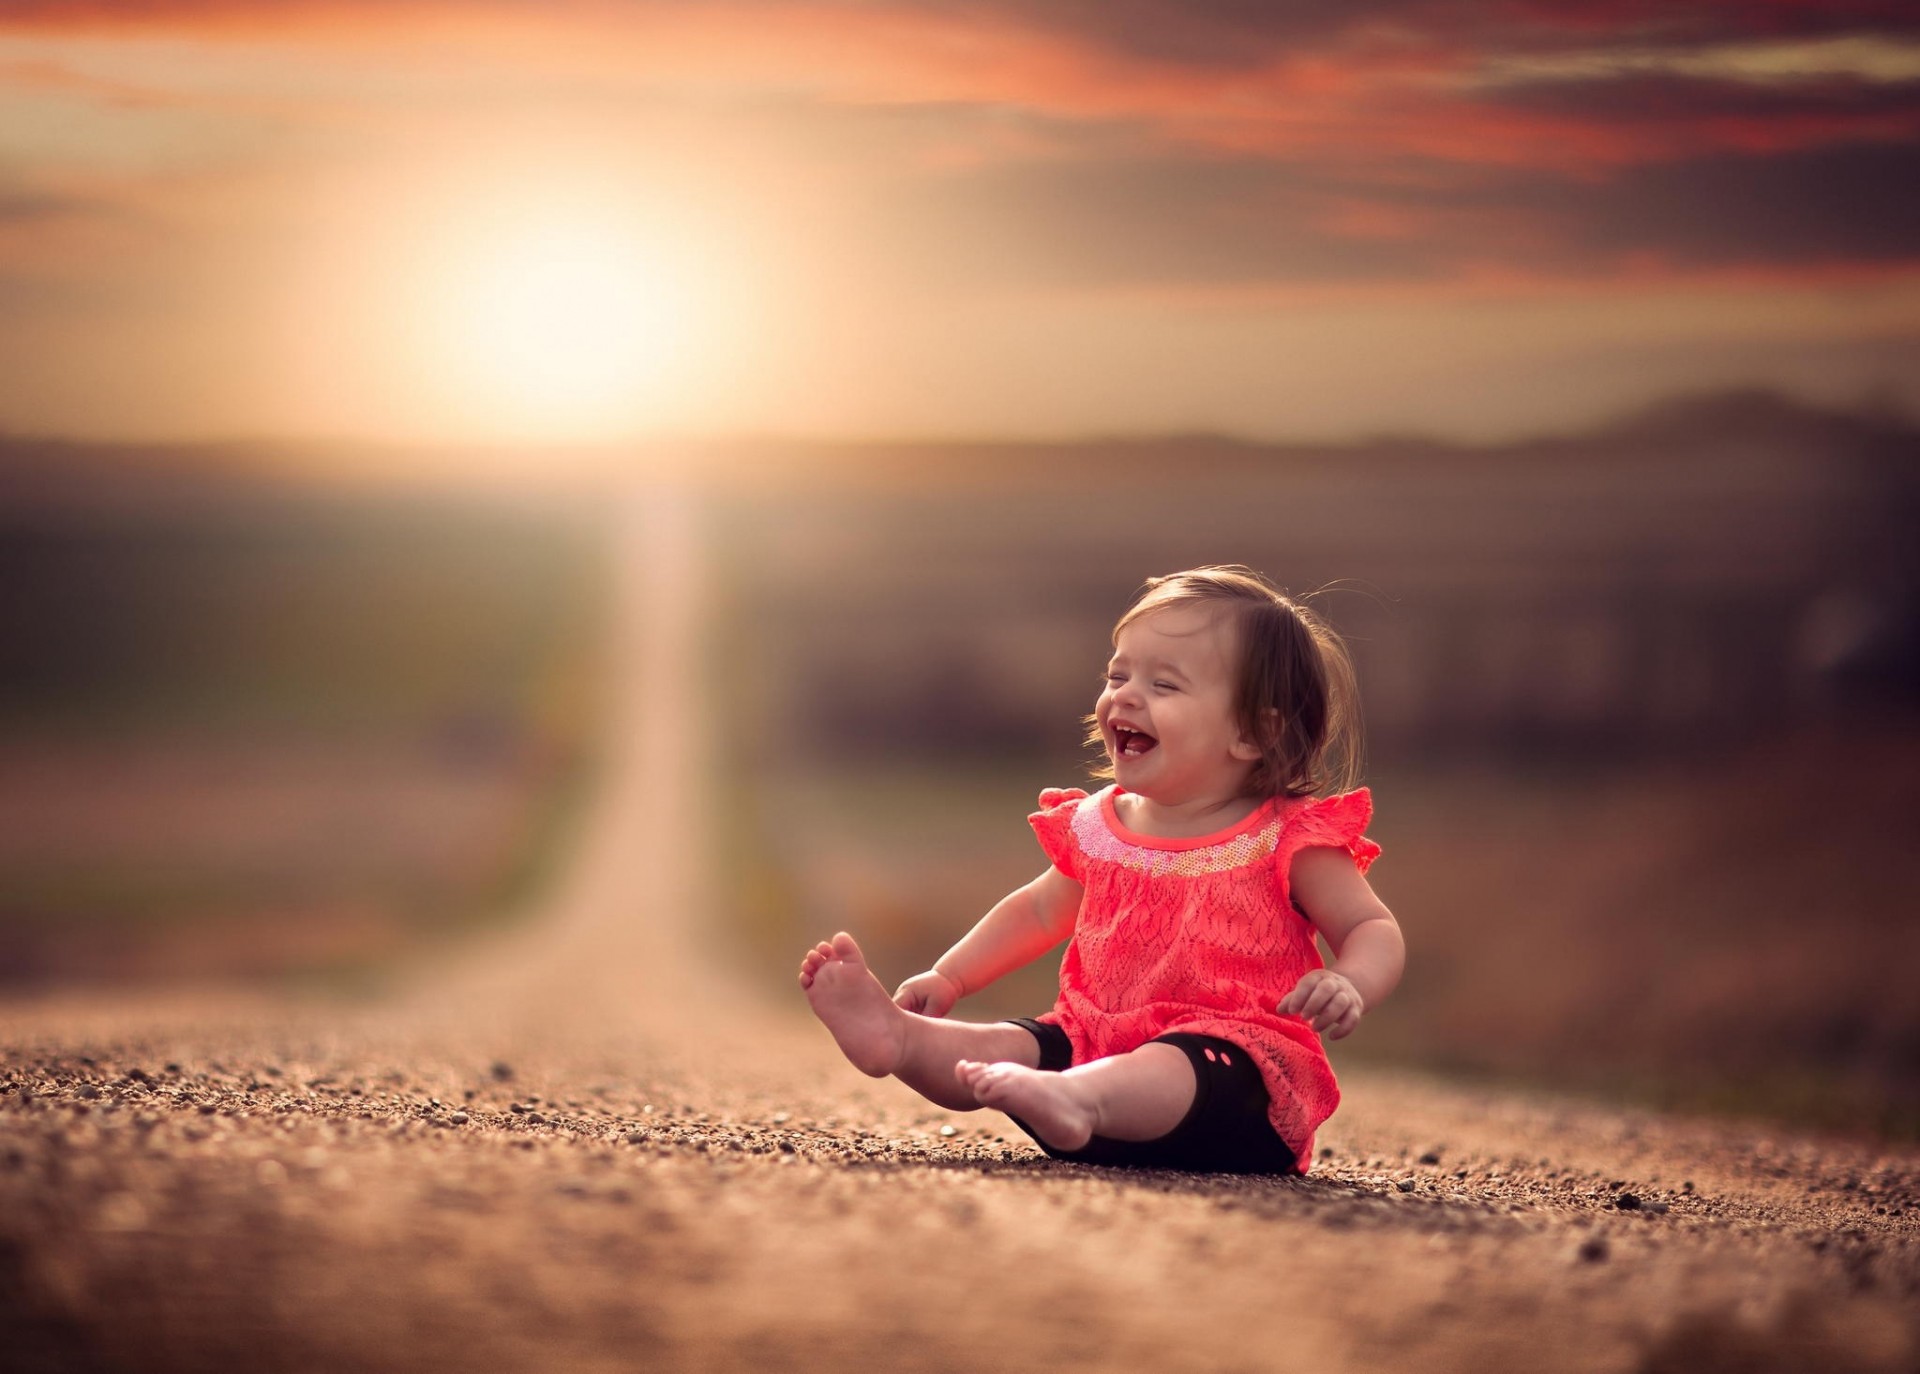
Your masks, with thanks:
[[[8,0],[0,430],[1912,407],[1916,186],[1908,0]]]

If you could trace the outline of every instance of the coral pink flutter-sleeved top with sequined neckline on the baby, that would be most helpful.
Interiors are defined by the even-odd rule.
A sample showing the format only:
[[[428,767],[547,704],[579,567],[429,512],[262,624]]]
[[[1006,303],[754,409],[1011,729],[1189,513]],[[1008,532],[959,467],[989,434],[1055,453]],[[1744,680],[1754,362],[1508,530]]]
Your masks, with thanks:
[[[1267,1082],[1267,1119],[1306,1173],[1340,1088],[1313,1027],[1273,1009],[1323,967],[1288,871],[1294,854],[1329,844],[1365,873],[1380,852],[1365,839],[1373,798],[1359,789],[1267,800],[1213,835],[1158,839],[1121,825],[1117,794],[1048,789],[1029,817],[1054,867],[1087,888],[1060,1000],[1039,1019],[1066,1030],[1075,1063],[1169,1030],[1242,1046]]]

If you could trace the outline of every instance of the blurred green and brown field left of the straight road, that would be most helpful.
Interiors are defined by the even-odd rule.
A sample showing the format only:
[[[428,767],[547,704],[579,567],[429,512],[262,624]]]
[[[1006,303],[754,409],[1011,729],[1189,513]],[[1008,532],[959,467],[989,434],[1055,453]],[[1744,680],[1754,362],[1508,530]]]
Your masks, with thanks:
[[[593,522],[140,478],[0,509],[0,984],[365,975],[538,892],[593,762]]]

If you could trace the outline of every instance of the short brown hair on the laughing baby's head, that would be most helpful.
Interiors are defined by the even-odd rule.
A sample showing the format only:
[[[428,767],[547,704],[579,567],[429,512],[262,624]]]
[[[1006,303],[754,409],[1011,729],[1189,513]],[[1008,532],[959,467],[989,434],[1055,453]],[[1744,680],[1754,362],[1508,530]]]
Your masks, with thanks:
[[[1354,660],[1340,635],[1263,574],[1221,564],[1148,578],[1114,626],[1114,639],[1140,616],[1167,606],[1217,606],[1233,616],[1240,670],[1235,722],[1260,743],[1248,796],[1315,796],[1359,781],[1361,729]],[[1087,743],[1102,743],[1087,718]],[[1112,779],[1112,760],[1092,770]]]

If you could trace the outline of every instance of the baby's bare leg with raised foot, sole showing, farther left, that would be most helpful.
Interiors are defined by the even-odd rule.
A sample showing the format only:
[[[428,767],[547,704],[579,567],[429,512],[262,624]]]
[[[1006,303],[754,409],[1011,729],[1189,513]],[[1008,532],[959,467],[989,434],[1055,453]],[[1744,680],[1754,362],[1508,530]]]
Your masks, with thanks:
[[[985,1105],[954,1077],[962,1059],[1029,1069],[1041,1063],[1041,1046],[1025,1027],[943,1021],[897,1007],[847,933],[806,952],[801,986],[854,1069],[876,1078],[891,1073],[943,1107],[973,1111]]]

